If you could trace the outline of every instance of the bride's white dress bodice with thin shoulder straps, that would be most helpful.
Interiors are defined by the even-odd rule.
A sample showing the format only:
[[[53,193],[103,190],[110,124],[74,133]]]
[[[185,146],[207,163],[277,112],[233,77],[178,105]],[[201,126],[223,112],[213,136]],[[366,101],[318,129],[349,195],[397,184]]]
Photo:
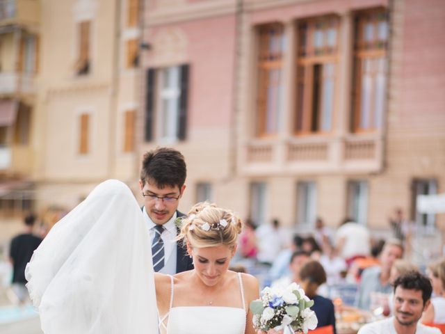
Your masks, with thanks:
[[[161,333],[167,334],[243,334],[245,300],[241,273],[238,273],[243,308],[223,306],[173,306],[174,285],[170,276],[169,312],[159,319]],[[165,322],[168,324],[165,325]]]

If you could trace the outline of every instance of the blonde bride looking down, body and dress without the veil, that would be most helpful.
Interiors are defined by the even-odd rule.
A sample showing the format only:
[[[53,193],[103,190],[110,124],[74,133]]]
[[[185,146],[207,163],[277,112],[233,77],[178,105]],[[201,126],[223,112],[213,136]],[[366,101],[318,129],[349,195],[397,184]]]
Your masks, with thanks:
[[[232,212],[208,202],[182,219],[179,238],[195,269],[175,276],[155,273],[161,333],[255,333],[249,304],[258,298],[258,281],[227,270],[241,228]]]

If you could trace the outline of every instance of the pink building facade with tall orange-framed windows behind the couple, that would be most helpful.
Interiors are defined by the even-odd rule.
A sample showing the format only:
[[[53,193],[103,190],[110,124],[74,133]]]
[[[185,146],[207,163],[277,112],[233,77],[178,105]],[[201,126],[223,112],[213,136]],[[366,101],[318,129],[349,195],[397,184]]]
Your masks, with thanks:
[[[416,211],[445,191],[443,1],[144,3],[139,155],[184,153],[183,210],[444,230]]]

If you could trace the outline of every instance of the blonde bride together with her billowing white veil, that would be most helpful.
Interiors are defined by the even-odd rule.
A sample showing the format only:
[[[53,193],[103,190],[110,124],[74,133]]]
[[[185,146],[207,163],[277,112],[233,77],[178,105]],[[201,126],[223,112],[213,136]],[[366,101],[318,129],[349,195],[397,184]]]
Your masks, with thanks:
[[[117,180],[99,184],[54,225],[26,267],[42,331],[254,333],[248,305],[258,298],[257,279],[228,270],[239,232],[229,210],[195,205],[180,235],[195,269],[155,275],[149,231],[130,189]]]

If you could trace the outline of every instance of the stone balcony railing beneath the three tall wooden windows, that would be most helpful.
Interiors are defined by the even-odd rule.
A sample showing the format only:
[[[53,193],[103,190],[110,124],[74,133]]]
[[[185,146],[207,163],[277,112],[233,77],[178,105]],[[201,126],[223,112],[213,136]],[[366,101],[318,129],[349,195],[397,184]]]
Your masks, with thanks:
[[[249,175],[372,173],[382,167],[378,134],[252,139],[241,152],[239,166]]]

